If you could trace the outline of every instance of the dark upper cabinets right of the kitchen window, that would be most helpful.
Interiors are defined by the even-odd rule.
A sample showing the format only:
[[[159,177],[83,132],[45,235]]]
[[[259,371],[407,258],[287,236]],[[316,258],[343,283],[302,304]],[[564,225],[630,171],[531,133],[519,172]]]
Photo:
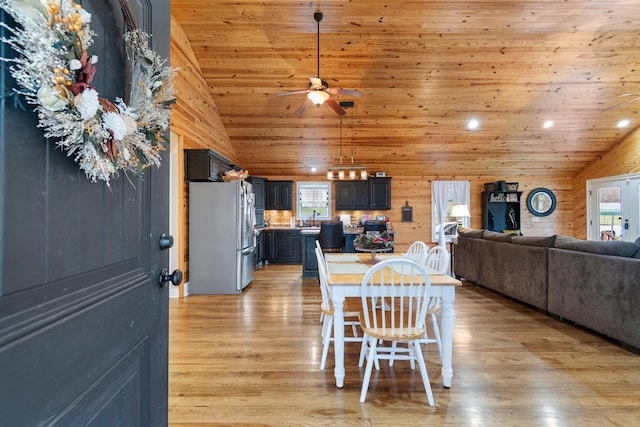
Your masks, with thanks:
[[[391,209],[391,178],[335,181],[336,210]]]

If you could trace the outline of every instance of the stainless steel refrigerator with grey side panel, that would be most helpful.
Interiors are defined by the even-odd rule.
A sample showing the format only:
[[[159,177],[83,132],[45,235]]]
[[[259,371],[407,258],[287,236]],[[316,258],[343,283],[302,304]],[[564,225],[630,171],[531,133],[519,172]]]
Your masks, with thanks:
[[[253,281],[253,187],[189,183],[189,293],[239,294]]]

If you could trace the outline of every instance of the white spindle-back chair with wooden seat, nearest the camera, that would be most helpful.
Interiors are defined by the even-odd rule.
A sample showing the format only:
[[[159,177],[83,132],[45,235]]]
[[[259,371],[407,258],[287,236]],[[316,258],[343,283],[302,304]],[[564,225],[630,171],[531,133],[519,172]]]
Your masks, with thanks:
[[[371,267],[361,283],[360,325],[366,337],[367,367],[360,402],[369,389],[376,361],[418,360],[429,405],[435,406],[427,366],[420,348],[424,336],[431,282],[423,265],[407,259],[390,259]],[[392,348],[380,342],[406,343],[408,348]]]

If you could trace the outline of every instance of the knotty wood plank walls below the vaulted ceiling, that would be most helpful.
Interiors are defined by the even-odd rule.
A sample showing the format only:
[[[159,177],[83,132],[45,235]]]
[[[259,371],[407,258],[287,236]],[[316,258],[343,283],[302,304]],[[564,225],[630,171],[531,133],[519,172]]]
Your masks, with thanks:
[[[175,81],[177,103],[171,115],[171,130],[182,141],[182,148],[210,148],[237,162],[236,154],[220,119],[214,100],[208,93],[195,55],[179,24],[171,20],[171,65],[179,68]],[[180,152],[182,153],[182,148]],[[471,227],[481,227],[481,192],[483,184],[504,180],[519,182],[523,192],[521,221],[522,232],[528,236],[562,234],[586,238],[586,180],[603,176],[622,175],[640,171],[640,130],[624,138],[609,153],[594,161],[575,177],[564,178],[519,177],[519,176],[415,176],[392,177],[392,209],[390,211],[366,212],[389,215],[394,229],[398,231],[398,250],[405,250],[415,240],[431,242],[431,180],[469,180],[471,182]],[[324,176],[267,176],[270,179],[294,181],[321,181]],[[180,255],[181,266],[188,280],[188,187],[184,182],[184,200],[181,204]],[[538,187],[548,188],[557,198],[557,208],[544,218],[534,217],[526,208],[526,197]],[[401,209],[406,202],[413,207],[413,222],[403,223]],[[295,208],[294,208],[295,209]],[[294,211],[295,212],[295,211]],[[334,212],[338,215],[342,212]],[[357,220],[364,212],[350,212]],[[288,223],[292,212],[268,212],[274,222]]]

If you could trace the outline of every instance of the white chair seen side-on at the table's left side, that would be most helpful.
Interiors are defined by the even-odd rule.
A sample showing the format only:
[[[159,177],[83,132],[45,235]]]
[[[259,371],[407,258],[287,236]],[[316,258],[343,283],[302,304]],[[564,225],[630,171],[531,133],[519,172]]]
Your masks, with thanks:
[[[327,355],[329,354],[329,345],[334,341],[333,337],[333,303],[331,302],[331,291],[327,281],[327,264],[324,262],[322,251],[316,248],[316,257],[318,259],[318,274],[320,276],[320,290],[322,293],[322,305],[320,309],[324,314],[322,323],[322,359],[320,360],[320,369],[324,370],[327,363]],[[360,320],[360,298],[347,298],[344,301],[344,324],[351,326],[353,336],[344,337],[345,342],[363,342],[363,337],[358,334],[358,326]],[[363,347],[360,349],[361,353]]]

